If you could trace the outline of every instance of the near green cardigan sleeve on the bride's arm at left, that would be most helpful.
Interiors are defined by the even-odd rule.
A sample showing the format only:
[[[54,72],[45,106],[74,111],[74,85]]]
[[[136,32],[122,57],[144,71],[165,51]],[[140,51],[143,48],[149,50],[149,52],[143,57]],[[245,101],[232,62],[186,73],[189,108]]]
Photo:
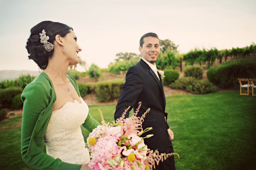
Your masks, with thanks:
[[[62,162],[43,152],[44,133],[40,127],[46,126],[45,109],[52,100],[51,89],[38,82],[32,82],[24,89],[21,99],[24,102],[21,127],[21,157],[25,163],[42,170],[79,170],[81,165]],[[50,107],[52,109],[52,107]],[[51,110],[52,111],[52,110]],[[38,128],[39,127],[39,128]],[[39,129],[39,130],[38,130]]]

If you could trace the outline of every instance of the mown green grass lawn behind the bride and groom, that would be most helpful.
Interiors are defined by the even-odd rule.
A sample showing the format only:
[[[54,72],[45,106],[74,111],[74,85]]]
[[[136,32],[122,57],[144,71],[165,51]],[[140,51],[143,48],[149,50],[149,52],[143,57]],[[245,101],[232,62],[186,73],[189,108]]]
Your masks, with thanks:
[[[256,97],[238,91],[166,98],[177,170],[256,169]],[[114,120],[116,105],[90,106],[100,122]],[[0,122],[0,169],[34,169],[20,156],[21,116]],[[88,132],[83,129],[83,133]]]

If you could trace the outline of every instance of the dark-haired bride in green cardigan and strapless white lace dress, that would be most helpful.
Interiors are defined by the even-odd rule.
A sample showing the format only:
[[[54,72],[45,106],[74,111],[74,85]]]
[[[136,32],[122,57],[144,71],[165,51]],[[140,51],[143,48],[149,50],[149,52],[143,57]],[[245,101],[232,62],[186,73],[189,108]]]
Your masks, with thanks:
[[[90,115],[76,80],[67,75],[69,65],[79,62],[77,54],[82,51],[77,37],[71,27],[52,21],[43,21],[30,32],[28,58],[44,72],[21,95],[22,159],[37,169],[90,169],[80,126],[92,131],[100,123]]]

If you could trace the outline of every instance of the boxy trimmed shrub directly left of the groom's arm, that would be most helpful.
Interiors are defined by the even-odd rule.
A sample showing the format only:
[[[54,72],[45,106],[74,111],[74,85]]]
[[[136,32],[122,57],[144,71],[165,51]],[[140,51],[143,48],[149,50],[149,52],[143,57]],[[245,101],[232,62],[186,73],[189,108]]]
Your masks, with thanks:
[[[115,79],[97,83],[96,93],[98,101],[108,102],[118,99],[122,92],[124,82],[122,79]]]

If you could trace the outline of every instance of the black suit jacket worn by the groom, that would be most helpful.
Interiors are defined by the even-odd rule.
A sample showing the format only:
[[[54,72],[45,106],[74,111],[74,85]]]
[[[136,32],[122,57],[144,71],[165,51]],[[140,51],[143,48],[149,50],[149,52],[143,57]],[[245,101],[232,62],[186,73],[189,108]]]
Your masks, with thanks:
[[[119,97],[115,119],[122,116],[124,110],[131,106],[134,111],[141,101],[142,105],[138,116],[150,108],[150,112],[146,115],[142,128],[153,127],[142,135],[145,137],[148,134],[153,134],[153,137],[144,139],[145,144],[152,150],[158,149],[160,153],[168,152],[169,135],[167,132],[168,124],[166,123],[167,115],[165,114],[165,95],[160,80],[157,78],[154,71],[148,66],[146,62],[140,60],[139,63],[132,66],[126,73],[126,81],[123,86],[123,91]],[[129,116],[129,112],[125,117]],[[165,118],[166,116],[166,118]]]

